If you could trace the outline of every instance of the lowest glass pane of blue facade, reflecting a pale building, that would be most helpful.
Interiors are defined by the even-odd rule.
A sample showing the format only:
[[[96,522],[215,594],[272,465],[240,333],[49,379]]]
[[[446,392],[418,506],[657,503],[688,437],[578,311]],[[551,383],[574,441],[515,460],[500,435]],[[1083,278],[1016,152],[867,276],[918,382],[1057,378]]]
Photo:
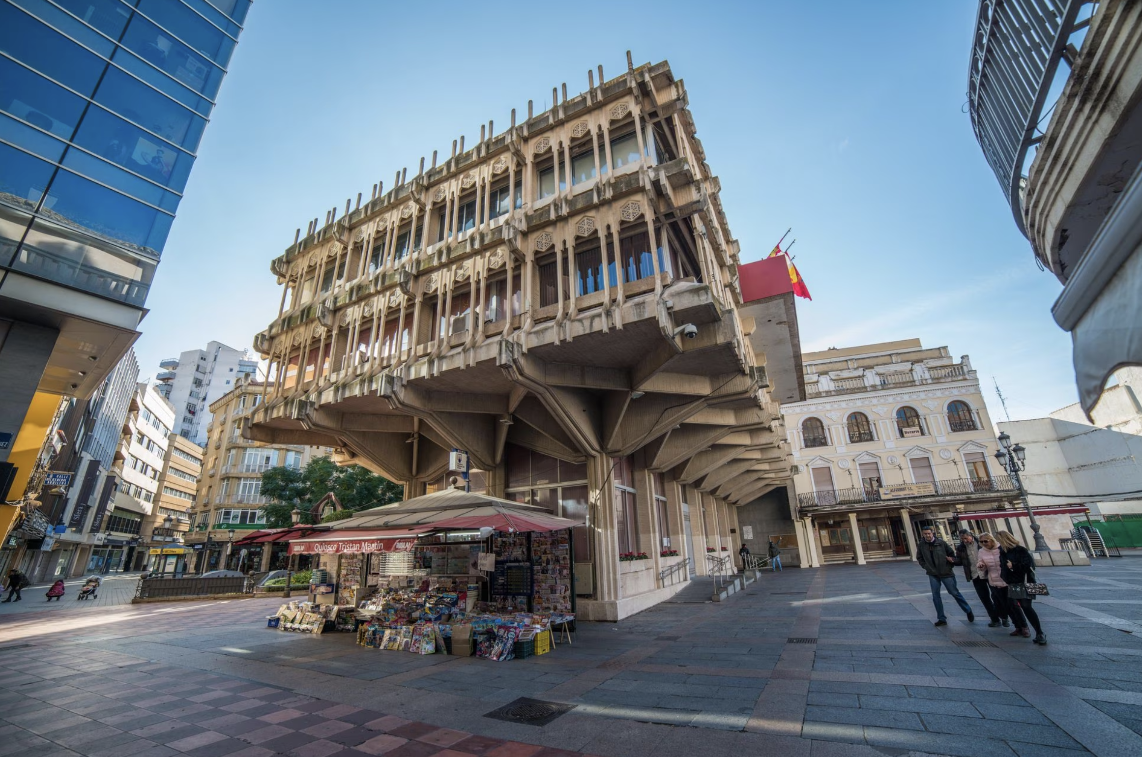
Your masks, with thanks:
[[[13,268],[69,287],[142,306],[155,263],[37,220]]]

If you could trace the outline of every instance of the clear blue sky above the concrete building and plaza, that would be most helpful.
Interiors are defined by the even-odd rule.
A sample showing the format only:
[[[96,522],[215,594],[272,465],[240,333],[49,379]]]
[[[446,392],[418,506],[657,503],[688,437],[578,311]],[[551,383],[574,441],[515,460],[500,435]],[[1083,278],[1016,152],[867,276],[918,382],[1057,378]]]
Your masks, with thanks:
[[[919,337],[970,354],[998,420],[1076,401],[1060,291],[1035,266],[965,113],[974,2],[656,2],[556,8],[254,3],[202,140],[137,351],[251,344],[270,260],[308,219],[480,124],[668,59],[742,261],[786,228],[813,301],[806,351]],[[568,23],[571,21],[572,23]],[[339,210],[339,212],[340,212]]]

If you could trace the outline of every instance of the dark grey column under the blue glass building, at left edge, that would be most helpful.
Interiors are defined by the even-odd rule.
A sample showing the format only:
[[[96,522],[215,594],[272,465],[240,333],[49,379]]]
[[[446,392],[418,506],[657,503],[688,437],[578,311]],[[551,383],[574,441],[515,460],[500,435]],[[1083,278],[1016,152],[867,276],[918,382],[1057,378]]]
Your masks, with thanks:
[[[3,387],[0,392],[0,434],[11,434],[8,444],[0,448],[0,461],[7,460],[15,448],[19,427],[24,424],[58,336],[56,329],[21,321],[11,322],[7,333],[0,331],[0,387]],[[19,491],[13,497],[22,494],[23,491]]]

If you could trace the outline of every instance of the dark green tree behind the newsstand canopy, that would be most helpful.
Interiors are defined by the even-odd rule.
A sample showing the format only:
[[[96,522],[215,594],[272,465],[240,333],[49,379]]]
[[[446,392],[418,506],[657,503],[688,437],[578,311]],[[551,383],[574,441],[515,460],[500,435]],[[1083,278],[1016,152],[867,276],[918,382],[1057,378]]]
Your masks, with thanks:
[[[282,529],[293,524],[293,508],[301,510],[301,523],[317,523],[314,508],[332,492],[346,510],[364,510],[399,502],[404,488],[359,465],[339,466],[329,458],[314,458],[304,468],[279,466],[262,474],[262,493],[273,500],[263,506],[266,525]]]

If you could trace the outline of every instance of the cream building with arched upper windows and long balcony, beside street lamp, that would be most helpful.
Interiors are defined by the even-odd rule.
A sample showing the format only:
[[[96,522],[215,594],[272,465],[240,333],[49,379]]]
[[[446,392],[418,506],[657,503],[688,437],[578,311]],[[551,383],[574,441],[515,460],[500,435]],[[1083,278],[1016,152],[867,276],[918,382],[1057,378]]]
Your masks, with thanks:
[[[980,518],[1020,500],[994,457],[995,430],[967,355],[956,361],[947,347],[903,339],[802,359],[805,400],[781,412],[797,472],[790,505],[803,566],[915,557],[924,525],[946,539],[959,528],[1022,533],[1018,512]]]

